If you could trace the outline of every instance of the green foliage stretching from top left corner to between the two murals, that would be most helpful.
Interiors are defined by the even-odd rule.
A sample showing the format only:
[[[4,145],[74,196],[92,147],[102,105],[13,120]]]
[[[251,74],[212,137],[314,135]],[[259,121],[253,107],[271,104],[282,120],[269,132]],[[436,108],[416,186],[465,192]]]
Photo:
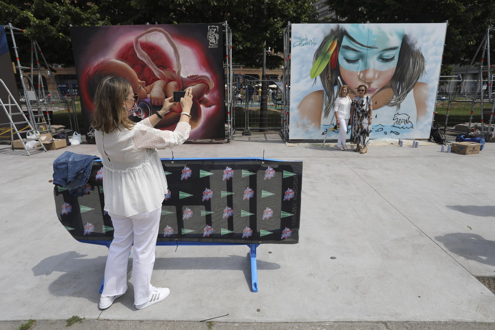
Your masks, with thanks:
[[[263,41],[275,52],[283,51],[287,22],[314,23],[314,0],[0,0],[0,22],[11,22],[36,39],[50,63],[73,64],[69,24],[131,25],[218,23],[232,28],[233,59],[248,66],[261,66]],[[92,3],[88,5],[87,3]],[[266,14],[263,13],[266,8]],[[20,40],[24,65],[30,62],[29,40]],[[22,55],[21,55],[22,56]],[[267,54],[267,68],[277,68],[283,59]]]

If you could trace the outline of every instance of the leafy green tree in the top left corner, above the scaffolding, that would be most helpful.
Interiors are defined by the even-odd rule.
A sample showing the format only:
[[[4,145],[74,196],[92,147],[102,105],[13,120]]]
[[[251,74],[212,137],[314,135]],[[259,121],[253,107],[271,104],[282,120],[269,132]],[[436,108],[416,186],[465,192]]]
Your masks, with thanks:
[[[1,24],[12,23],[14,27],[24,30],[25,37],[15,38],[21,64],[29,66],[31,61],[29,40],[38,41],[49,63],[73,64],[69,24],[109,24],[108,20],[100,19],[97,6],[86,3],[75,0],[0,0]]]

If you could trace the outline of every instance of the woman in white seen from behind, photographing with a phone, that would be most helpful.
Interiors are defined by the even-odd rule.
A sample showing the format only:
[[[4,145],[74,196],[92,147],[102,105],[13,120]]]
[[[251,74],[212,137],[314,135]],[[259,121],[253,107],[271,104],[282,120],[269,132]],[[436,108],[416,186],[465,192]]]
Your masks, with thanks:
[[[191,88],[181,99],[182,113],[175,130],[162,131],[154,126],[176,103],[165,100],[163,108],[134,123],[138,95],[121,77],[101,80],[95,96],[93,127],[103,163],[105,207],[112,219],[114,234],[108,249],[105,284],[99,307],[110,307],[127,290],[127,262],[134,242],[134,303],[142,309],[165,299],[170,290],[150,284],[155,260],[156,238],[161,203],[168,192],[157,148],[172,148],[189,137]]]

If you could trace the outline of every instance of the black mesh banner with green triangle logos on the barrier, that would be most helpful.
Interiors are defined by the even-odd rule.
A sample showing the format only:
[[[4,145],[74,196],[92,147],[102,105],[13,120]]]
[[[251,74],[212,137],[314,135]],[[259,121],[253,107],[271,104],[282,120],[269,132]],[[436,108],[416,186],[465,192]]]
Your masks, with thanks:
[[[158,241],[296,244],[301,161],[162,159],[168,193]],[[103,210],[102,164],[93,163],[84,196],[54,187],[58,219],[80,240],[111,240]]]

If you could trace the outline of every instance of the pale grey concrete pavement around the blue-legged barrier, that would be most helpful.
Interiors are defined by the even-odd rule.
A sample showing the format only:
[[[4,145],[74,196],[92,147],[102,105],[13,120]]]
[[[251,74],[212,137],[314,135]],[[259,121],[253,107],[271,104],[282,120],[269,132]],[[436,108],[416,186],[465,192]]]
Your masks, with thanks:
[[[64,151],[98,155],[96,146],[31,157],[0,151],[0,320],[200,321],[229,314],[215,325],[494,323],[495,295],[475,278],[495,276],[494,146],[470,156],[441,153],[440,146],[369,147],[359,155],[286,147],[275,134],[178,146],[174,157],[261,157],[265,150],[266,158],[304,161],[301,238],[258,248],[257,293],[249,290],[247,247],[158,247],[152,283],[171,294],[139,311],[132,260],[128,292],[98,309],[106,248],[75,241],[56,217],[51,163]]]

